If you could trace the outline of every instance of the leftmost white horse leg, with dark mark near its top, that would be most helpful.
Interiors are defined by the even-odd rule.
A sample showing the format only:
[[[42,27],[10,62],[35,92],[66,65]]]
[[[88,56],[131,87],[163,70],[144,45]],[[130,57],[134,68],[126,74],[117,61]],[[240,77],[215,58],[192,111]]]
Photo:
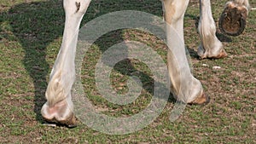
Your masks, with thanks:
[[[75,79],[75,52],[79,26],[89,7],[90,0],[64,0],[66,20],[61,49],[50,73],[46,89],[47,102],[42,107],[42,116],[49,122],[74,125],[71,89]]]

